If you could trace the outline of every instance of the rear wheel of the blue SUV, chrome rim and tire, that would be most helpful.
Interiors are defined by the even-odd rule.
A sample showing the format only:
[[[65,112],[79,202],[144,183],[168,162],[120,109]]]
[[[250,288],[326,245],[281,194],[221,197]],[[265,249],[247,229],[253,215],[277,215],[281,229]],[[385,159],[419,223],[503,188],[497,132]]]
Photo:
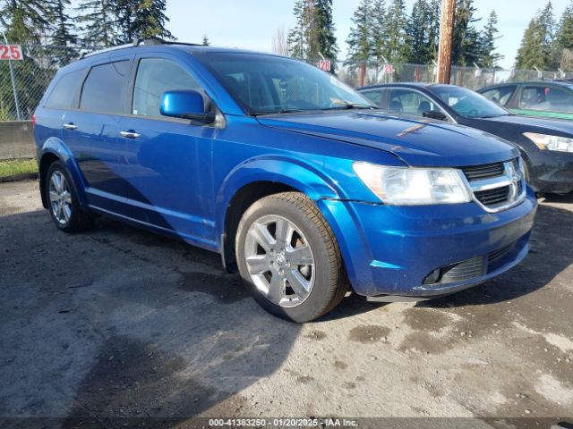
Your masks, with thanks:
[[[64,164],[59,161],[50,164],[44,183],[47,209],[57,228],[64,232],[74,233],[85,231],[93,226],[95,215],[81,208],[75,183]]]

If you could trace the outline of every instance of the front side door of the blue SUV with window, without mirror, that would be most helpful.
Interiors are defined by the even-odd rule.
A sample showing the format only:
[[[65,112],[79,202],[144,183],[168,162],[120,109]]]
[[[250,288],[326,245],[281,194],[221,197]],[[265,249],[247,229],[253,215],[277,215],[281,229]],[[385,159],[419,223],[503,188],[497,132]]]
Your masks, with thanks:
[[[126,145],[131,216],[204,245],[205,237],[212,236],[206,213],[212,195],[212,142],[218,129],[162,116],[159,108],[167,90],[199,91],[208,109],[209,98],[192,66],[167,53],[138,55],[132,81],[131,114],[119,130]]]

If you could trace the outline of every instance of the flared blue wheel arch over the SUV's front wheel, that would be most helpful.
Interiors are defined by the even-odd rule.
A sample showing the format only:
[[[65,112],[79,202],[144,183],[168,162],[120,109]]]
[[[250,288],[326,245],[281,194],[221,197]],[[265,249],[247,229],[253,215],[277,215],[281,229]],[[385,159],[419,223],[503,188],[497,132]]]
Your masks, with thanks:
[[[235,193],[257,181],[281,183],[294,188],[313,201],[342,198],[336,182],[312,164],[290,156],[260,156],[237,165],[218,189],[216,208],[218,237],[225,229],[227,207]]]

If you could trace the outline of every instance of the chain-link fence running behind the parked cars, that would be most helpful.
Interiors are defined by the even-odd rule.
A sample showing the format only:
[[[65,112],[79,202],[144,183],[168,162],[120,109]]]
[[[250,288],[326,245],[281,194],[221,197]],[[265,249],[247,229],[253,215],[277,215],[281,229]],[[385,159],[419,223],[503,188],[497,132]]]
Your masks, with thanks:
[[[22,45],[21,60],[6,60],[0,53],[0,121],[30,120],[56,71],[74,61],[82,51],[96,46]],[[434,64],[390,64],[304,59],[321,70],[333,72],[352,87],[391,82],[433,82]],[[451,83],[466,88],[482,88],[504,81],[573,79],[573,72],[478,69],[452,67]]]

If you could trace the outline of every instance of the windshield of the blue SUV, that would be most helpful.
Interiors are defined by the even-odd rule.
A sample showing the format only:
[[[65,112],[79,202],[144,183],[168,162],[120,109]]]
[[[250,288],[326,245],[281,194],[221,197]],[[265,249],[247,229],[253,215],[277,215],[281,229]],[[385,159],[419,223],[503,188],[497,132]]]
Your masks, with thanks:
[[[376,107],[331,74],[298,60],[239,53],[197,58],[248,114]]]

